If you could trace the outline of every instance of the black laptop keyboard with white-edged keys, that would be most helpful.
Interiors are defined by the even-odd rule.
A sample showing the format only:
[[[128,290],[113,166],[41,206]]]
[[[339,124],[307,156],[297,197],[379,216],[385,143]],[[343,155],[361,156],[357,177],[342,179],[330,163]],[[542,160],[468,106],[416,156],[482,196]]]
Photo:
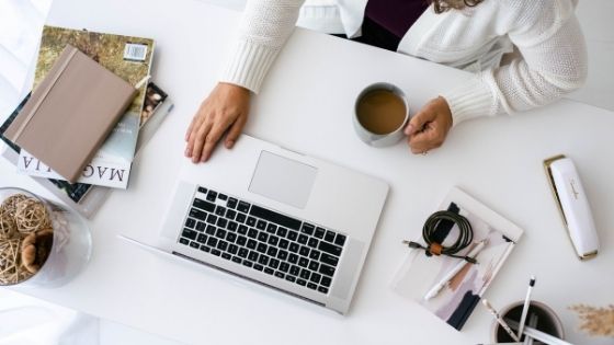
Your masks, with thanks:
[[[328,294],[345,235],[198,187],[179,243]]]

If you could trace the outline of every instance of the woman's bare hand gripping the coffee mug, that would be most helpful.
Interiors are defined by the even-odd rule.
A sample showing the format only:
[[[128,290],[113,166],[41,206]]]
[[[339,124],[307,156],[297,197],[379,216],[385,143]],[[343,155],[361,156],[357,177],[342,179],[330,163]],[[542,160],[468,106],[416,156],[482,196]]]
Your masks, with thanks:
[[[413,115],[405,128],[407,143],[413,153],[427,153],[436,149],[445,140],[452,128],[452,112],[444,97],[439,96],[427,103]]]

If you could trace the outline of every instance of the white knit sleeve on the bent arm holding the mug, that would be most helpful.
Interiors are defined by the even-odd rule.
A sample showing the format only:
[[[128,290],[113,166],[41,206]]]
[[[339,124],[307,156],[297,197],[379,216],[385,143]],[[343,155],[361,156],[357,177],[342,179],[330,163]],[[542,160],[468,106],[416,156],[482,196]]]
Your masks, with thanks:
[[[583,85],[587,48],[573,5],[562,1],[521,1],[509,37],[520,55],[511,64],[477,73],[442,94],[454,125],[546,105]]]

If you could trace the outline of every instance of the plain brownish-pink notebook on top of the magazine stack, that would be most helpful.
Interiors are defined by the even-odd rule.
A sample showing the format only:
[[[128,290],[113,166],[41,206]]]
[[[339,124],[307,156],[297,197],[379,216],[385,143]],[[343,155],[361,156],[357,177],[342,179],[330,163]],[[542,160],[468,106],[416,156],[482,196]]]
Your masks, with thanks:
[[[67,45],[4,136],[73,183],[136,94]]]

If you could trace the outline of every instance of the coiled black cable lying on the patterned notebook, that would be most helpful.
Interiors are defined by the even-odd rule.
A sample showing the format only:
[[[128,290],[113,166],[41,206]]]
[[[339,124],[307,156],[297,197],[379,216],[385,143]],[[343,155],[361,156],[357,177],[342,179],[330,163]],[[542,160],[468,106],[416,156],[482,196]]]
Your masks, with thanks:
[[[444,220],[454,222],[461,230],[458,233],[458,238],[456,239],[454,244],[450,246],[444,246],[434,240],[435,231],[440,222]],[[429,217],[429,219],[427,219],[427,221],[424,222],[424,227],[422,228],[422,238],[424,239],[427,246],[412,241],[403,241],[403,243],[409,248],[423,249],[427,256],[431,256],[433,254],[443,254],[452,257],[463,258],[471,264],[475,264],[477,262],[474,257],[455,255],[459,251],[467,248],[467,245],[469,245],[474,240],[474,230],[471,229],[471,225],[469,223],[467,218],[456,212],[441,210],[432,214],[431,217]]]

